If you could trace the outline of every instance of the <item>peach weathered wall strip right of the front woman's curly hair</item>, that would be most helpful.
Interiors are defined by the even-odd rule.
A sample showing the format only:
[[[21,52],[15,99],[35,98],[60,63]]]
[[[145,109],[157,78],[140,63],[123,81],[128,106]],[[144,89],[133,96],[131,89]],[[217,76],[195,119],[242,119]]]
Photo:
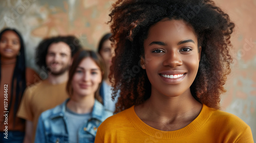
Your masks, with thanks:
[[[222,96],[222,109],[239,116],[256,142],[256,0],[215,0],[236,24],[231,38],[234,63]]]

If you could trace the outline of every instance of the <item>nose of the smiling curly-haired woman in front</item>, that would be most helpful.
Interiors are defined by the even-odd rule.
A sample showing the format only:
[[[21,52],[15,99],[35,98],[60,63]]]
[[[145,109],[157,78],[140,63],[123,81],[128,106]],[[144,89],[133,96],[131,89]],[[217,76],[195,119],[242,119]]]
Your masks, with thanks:
[[[165,54],[163,65],[170,67],[181,66],[181,54],[178,51],[170,51],[169,53]]]

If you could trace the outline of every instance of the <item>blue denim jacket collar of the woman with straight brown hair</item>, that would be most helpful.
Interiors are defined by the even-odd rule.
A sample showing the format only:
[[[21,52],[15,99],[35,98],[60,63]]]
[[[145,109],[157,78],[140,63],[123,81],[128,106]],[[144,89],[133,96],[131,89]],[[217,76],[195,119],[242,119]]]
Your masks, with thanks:
[[[70,99],[67,99],[65,102],[63,102],[60,106],[58,106],[59,108],[55,108],[53,110],[53,114],[50,116],[51,119],[55,118],[55,117],[63,117],[65,116],[65,112],[66,112],[66,105],[67,102]],[[95,100],[94,106],[93,106],[93,111],[92,111],[92,118],[95,118],[96,120],[99,120],[100,122],[104,121],[104,117],[102,112],[104,112],[104,107],[103,105],[98,102],[97,100]]]

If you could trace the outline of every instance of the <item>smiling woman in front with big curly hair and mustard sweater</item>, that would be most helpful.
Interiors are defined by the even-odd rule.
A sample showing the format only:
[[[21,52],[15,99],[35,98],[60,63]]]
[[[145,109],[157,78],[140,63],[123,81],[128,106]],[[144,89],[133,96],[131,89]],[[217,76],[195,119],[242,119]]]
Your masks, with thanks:
[[[213,1],[117,1],[110,78],[116,113],[95,142],[253,142],[220,109],[234,23]]]

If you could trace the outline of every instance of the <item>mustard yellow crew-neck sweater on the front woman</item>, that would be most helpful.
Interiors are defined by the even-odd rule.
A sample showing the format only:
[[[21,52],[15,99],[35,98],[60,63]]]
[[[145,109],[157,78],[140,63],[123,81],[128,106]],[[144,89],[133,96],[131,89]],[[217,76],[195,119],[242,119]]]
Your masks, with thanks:
[[[198,117],[176,131],[147,126],[134,106],[107,118],[98,128],[95,142],[253,142],[250,127],[239,117],[203,105]]]

